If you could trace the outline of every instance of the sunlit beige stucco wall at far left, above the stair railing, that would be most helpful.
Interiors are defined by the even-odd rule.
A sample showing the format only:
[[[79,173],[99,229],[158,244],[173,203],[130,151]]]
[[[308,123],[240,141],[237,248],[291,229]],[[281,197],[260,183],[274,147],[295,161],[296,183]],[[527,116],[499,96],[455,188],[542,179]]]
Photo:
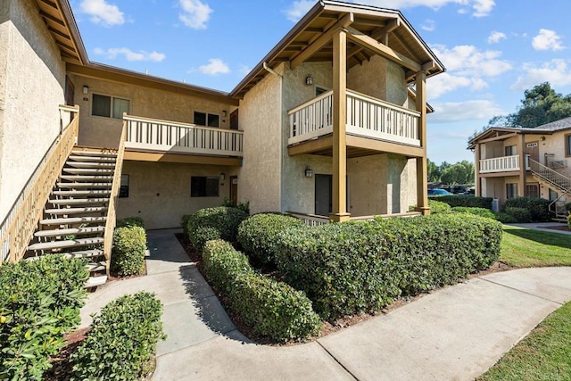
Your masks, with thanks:
[[[65,66],[30,1],[0,3],[0,220],[60,131]]]

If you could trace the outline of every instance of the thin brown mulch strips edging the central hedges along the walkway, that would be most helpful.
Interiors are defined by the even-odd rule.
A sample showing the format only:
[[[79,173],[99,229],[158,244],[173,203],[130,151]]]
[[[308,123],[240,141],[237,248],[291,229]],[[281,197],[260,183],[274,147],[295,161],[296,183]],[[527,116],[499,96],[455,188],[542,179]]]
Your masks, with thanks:
[[[202,258],[201,253],[197,253],[194,250],[194,247],[192,246],[192,244],[190,244],[188,237],[185,236],[183,233],[175,234],[175,236],[177,237],[178,242],[182,245],[183,249],[185,250],[185,252],[188,255],[188,257],[190,258],[190,260],[194,262],[196,267],[200,270],[201,274],[203,274],[203,277],[206,278],[204,276],[204,272],[203,272],[203,263],[202,263],[203,258]],[[236,246],[236,244],[235,244],[235,246]],[[495,262],[494,264],[492,264],[492,266],[489,269],[485,269],[482,271],[478,271],[474,274],[470,274],[468,276],[468,279],[472,279],[474,277],[481,277],[483,275],[491,274],[493,272],[507,271],[509,269],[515,269],[515,268],[511,267],[511,266],[509,266],[509,265],[507,265],[501,261],[498,261],[498,262]],[[280,280],[280,278],[282,277],[281,274],[279,274],[275,268],[262,268],[261,272],[263,274],[269,276],[269,277],[277,278],[278,280]],[[214,286],[211,286],[211,287],[212,287],[212,290],[214,291],[214,293],[218,296],[219,301],[222,303],[222,305],[227,306],[228,305],[228,299],[226,297],[220,295],[219,290],[217,290],[216,287],[214,287]],[[436,290],[434,290],[434,291],[436,291]],[[428,292],[427,294],[430,294],[430,292]],[[389,313],[390,311],[394,311],[394,310],[396,310],[396,309],[398,309],[398,308],[400,308],[400,307],[402,307],[402,306],[404,306],[410,302],[414,302],[414,301],[426,296],[427,294],[418,294],[418,295],[411,296],[411,297],[399,298],[396,301],[392,302],[391,304],[385,306],[385,308],[381,311],[344,316],[343,318],[336,319],[334,322],[324,321],[323,326],[321,327],[321,330],[319,331],[319,334],[315,337],[311,337],[307,341],[308,342],[315,341],[315,340],[319,339],[319,337],[330,335],[332,333],[335,333],[337,331],[342,330],[343,328],[354,326],[356,324],[359,324],[360,322],[366,321],[368,319],[375,318],[376,316],[379,316],[379,315],[385,315],[385,314]],[[252,331],[251,327],[248,327],[244,324],[244,322],[240,319],[240,317],[238,315],[236,315],[236,313],[234,313],[233,311],[228,311],[228,309],[226,309],[226,308],[225,308],[225,310],[227,311],[228,316],[230,317],[230,319],[232,319],[232,321],[234,322],[234,325],[240,331],[240,333],[242,333],[244,336],[246,336],[248,339],[250,339],[253,343],[266,344],[266,345],[276,345],[276,346],[282,346],[282,345],[290,346],[290,345],[300,344],[300,343],[294,342],[294,341],[290,341],[290,342],[285,343],[285,344],[278,344],[278,343],[270,340],[268,337],[257,335]]]

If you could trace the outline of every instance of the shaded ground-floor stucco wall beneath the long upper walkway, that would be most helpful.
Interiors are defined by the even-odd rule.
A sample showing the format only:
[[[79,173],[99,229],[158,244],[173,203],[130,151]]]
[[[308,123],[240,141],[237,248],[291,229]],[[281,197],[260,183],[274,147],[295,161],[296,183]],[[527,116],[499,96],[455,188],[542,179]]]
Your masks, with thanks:
[[[117,218],[138,216],[145,228],[178,228],[183,214],[219,206],[230,196],[230,169],[224,166],[172,162],[123,162],[129,176],[129,195],[120,198]],[[191,197],[191,176],[219,177],[219,197]]]

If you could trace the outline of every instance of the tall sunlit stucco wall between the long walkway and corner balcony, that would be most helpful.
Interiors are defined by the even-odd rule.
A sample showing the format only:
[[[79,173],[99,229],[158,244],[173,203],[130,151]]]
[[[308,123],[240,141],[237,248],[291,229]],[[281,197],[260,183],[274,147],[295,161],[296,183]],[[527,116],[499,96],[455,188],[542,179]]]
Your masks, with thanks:
[[[284,65],[277,68],[283,72]],[[238,177],[238,201],[252,213],[281,210],[281,79],[267,75],[240,101],[244,161]]]

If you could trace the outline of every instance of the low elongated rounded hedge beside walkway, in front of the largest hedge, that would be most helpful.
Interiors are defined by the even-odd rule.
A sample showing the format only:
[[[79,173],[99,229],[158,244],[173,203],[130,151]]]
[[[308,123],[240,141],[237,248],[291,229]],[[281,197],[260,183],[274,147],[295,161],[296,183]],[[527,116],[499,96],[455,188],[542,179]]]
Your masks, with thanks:
[[[243,253],[226,241],[209,241],[204,246],[206,277],[226,297],[248,327],[278,342],[301,340],[319,331],[319,316],[300,291],[254,271]]]

